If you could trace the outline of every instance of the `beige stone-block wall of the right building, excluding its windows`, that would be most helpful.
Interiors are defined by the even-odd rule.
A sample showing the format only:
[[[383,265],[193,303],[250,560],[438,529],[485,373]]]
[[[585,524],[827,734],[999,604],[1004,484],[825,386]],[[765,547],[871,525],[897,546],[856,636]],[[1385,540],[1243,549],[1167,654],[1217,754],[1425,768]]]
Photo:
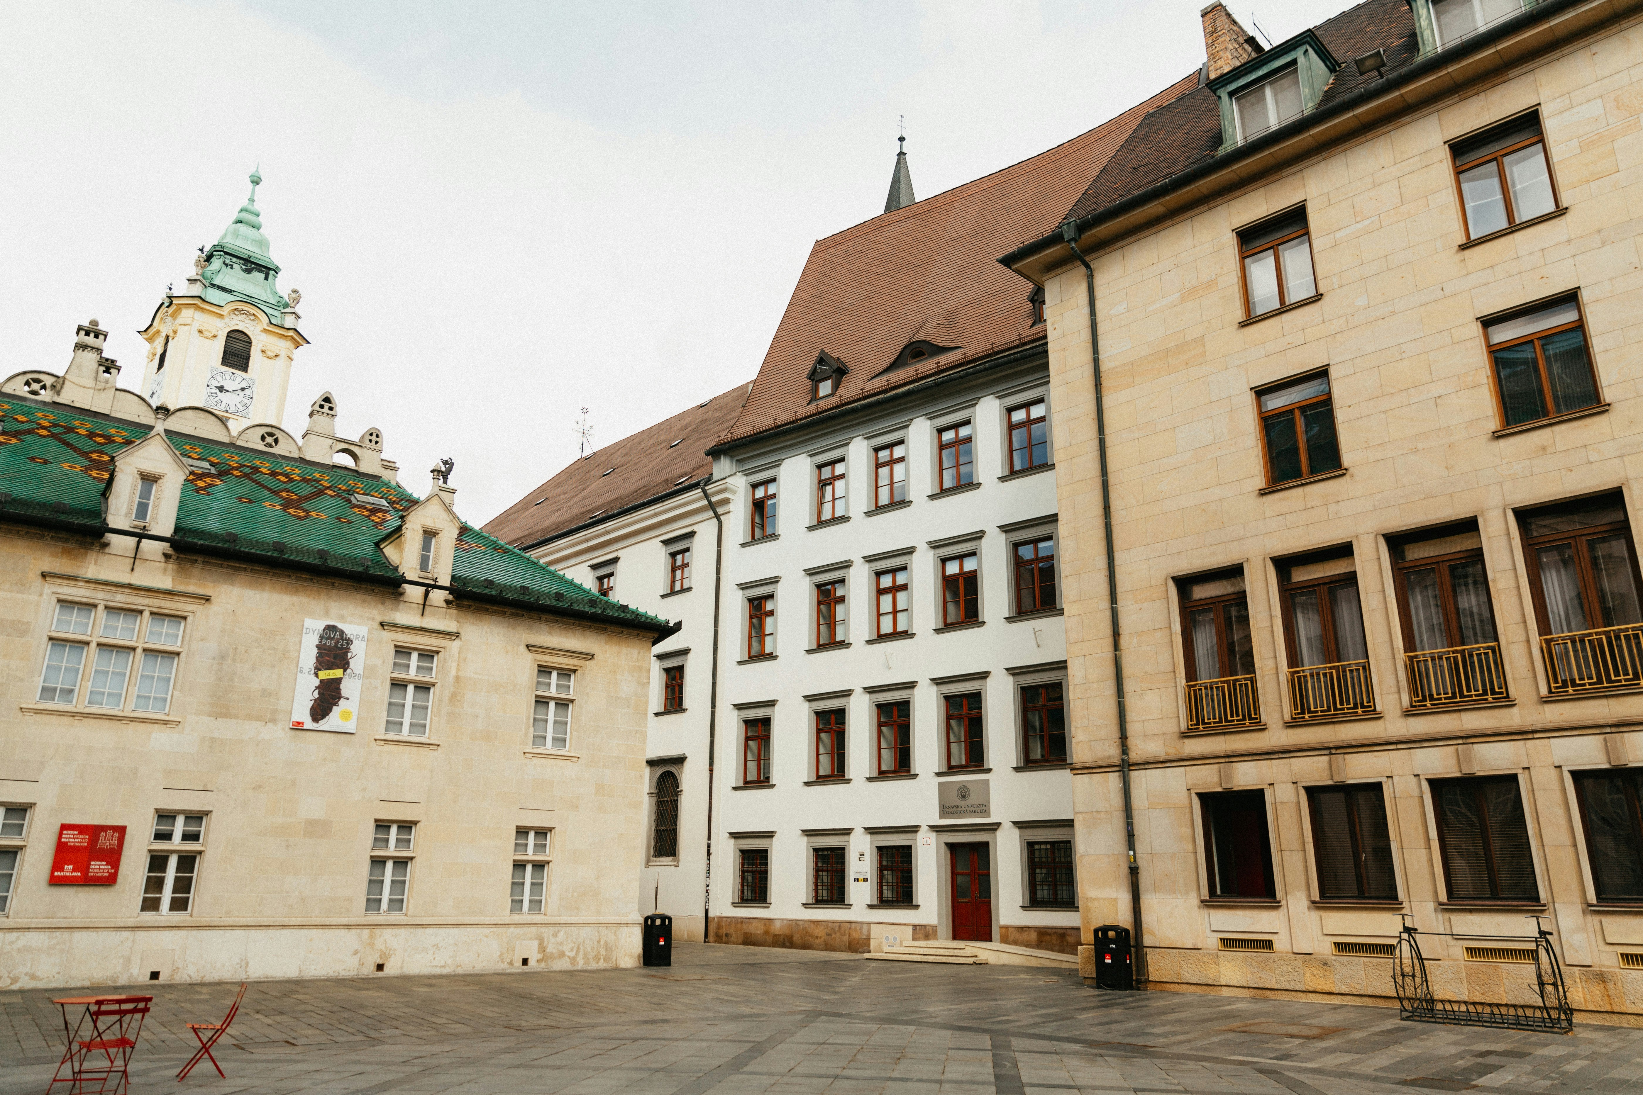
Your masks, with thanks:
[[[1405,914],[1428,932],[1515,936],[1539,914],[1576,1010],[1643,1023],[1643,970],[1622,967],[1643,951],[1643,908],[1597,900],[1571,775],[1643,762],[1643,698],[1551,694],[1518,522],[1525,507],[1604,491],[1620,493],[1633,534],[1643,519],[1643,28],[1636,5],[1556,18],[1569,20],[1558,36],[1525,31],[1533,48],[1512,39],[1439,66],[1397,108],[1365,107],[1357,123],[1275,144],[1199,181],[1199,197],[1084,240],[1155,988],[1387,1003],[1390,960],[1339,944],[1392,944]],[[1449,143],[1526,110],[1539,112],[1558,212],[1464,243]],[[1319,296],[1247,320],[1237,230],[1298,204]],[[1060,266],[1045,287],[1088,931],[1127,924],[1132,909],[1084,271]],[[1480,317],[1562,292],[1579,294],[1602,402],[1502,428]],[[1314,369],[1328,369],[1344,473],[1272,489],[1252,392]],[[1388,537],[1462,520],[1477,522],[1510,703],[1421,711]],[[1273,560],[1337,545],[1355,566],[1378,711],[1298,719]],[[1236,566],[1263,722],[1190,734],[1180,580]],[[1447,898],[1429,781],[1461,775],[1520,781],[1538,901]],[[1346,783],[1383,788],[1395,901],[1321,900],[1306,791]],[[1263,793],[1275,900],[1211,900],[1199,803],[1222,790]],[[1224,937],[1273,952],[1217,949]],[[1431,937],[1426,952],[1439,995],[1533,992],[1533,965],[1466,960],[1459,939]]]

